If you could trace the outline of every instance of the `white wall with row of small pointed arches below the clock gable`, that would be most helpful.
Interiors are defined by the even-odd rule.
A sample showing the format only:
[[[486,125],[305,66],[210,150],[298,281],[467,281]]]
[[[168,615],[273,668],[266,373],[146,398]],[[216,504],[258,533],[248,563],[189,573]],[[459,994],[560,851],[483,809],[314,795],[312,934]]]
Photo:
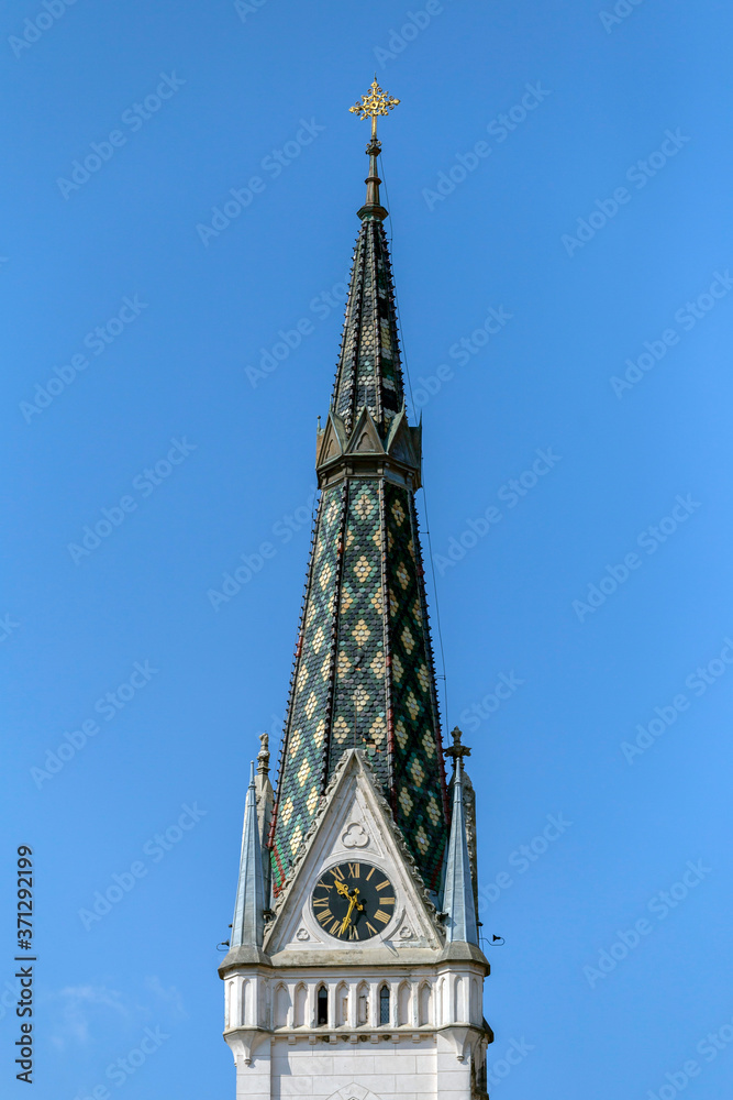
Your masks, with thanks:
[[[224,1037],[236,1064],[237,1100],[307,1096],[351,1100],[470,1100],[485,1033],[476,964],[444,963],[363,972],[266,974],[237,968],[226,978]],[[329,1023],[318,1025],[316,992],[327,990]],[[390,992],[390,1020],[379,994]],[[364,1008],[367,1007],[367,1021]],[[349,1092],[349,1088],[352,1091]]]

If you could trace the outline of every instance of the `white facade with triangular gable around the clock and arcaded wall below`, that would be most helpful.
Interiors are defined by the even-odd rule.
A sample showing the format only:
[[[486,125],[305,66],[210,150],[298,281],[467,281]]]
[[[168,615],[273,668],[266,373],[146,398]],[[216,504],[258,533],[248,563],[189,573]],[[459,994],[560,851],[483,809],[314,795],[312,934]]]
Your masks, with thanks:
[[[354,859],[356,847],[390,877],[397,905],[380,935],[346,946],[323,932],[310,898],[323,869]],[[231,952],[220,971],[237,1100],[485,1097],[488,970],[478,948],[445,944],[370,768],[360,754],[347,752],[265,933],[264,952],[257,961]],[[325,1023],[319,1023],[320,989]]]

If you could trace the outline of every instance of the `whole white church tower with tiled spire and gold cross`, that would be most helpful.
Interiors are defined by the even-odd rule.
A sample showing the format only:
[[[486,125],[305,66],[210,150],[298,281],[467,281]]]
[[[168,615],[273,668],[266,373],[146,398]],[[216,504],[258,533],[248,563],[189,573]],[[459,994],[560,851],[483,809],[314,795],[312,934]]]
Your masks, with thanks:
[[[377,174],[398,102],[375,80],[351,108],[369,174],[277,784],[264,735],[219,970],[237,1100],[487,1097],[469,750],[455,730],[446,785]]]

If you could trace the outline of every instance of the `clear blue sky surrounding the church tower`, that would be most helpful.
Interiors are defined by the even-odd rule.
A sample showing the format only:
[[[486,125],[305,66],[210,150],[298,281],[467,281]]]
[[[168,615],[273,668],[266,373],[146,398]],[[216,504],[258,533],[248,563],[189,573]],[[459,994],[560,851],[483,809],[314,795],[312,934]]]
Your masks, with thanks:
[[[506,938],[492,1094],[719,1100],[729,7],[48,2],[0,34],[0,986],[27,844],[35,1096],[233,1096],[215,945],[285,706],[364,191],[347,108],[376,68],[402,101],[384,177],[444,719],[473,746],[482,931]],[[242,556],[251,580],[212,598]],[[108,1077],[145,1028],[134,1077]]]

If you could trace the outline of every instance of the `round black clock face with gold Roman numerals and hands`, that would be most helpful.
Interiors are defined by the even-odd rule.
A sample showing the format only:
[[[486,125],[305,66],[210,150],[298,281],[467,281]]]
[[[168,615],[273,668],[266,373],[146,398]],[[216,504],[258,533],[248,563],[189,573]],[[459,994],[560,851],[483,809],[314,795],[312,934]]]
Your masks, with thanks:
[[[336,864],[313,888],[315,920],[335,939],[365,941],[384,932],[395,914],[395,887],[371,864]]]

